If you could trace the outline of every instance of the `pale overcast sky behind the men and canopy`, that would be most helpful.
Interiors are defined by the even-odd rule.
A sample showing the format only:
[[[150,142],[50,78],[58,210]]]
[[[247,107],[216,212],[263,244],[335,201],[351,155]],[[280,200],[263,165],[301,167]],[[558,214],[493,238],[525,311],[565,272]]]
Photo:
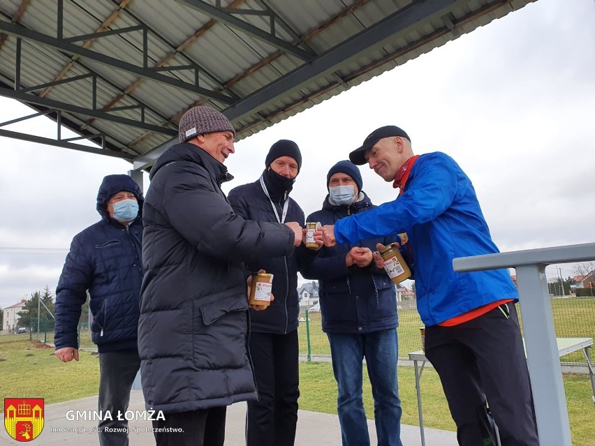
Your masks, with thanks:
[[[471,34],[235,144],[235,180],[255,181],[271,144],[295,140],[302,170],[291,196],[321,208],[330,166],[374,128],[393,124],[413,151],[444,151],[476,188],[501,251],[591,243],[595,228],[595,2],[539,0]],[[31,110],[0,98],[0,121]],[[45,118],[8,129],[56,134]],[[0,137],[0,307],[46,285],[55,292],[72,237],[98,221],[106,156]],[[376,204],[396,191],[367,166]],[[148,183],[145,184],[145,190]],[[572,265],[558,265],[573,275]],[[548,267],[548,275],[554,274]]]

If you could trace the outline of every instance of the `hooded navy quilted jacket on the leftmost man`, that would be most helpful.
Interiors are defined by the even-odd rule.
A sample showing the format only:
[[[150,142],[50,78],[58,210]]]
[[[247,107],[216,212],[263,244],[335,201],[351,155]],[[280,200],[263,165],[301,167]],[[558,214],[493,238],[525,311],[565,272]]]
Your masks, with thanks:
[[[110,218],[108,200],[134,193],[139,216],[127,227]],[[97,195],[98,221],[75,235],[56,290],[56,350],[78,348],[77,326],[87,299],[93,314],[91,336],[99,352],[137,348],[142,283],[142,191],[128,175],[108,175]]]

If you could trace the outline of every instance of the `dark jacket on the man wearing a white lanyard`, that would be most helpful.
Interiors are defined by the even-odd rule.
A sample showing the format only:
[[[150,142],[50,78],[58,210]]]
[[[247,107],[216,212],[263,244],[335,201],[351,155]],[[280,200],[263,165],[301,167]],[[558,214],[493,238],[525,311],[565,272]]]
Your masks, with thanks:
[[[266,177],[264,177],[266,178]],[[265,180],[266,181],[266,180]],[[271,186],[267,186],[272,194]],[[290,197],[287,208],[286,222],[297,221],[304,225],[304,211]],[[272,195],[273,203],[277,205],[277,214],[281,215],[281,202]],[[244,218],[256,221],[277,221],[272,210],[271,200],[265,195],[260,181],[244,184],[233,188],[229,193],[229,202],[233,210]],[[284,203],[284,200],[282,200]],[[298,328],[300,313],[300,299],[298,297],[298,270],[309,265],[316,257],[316,251],[300,245],[292,255],[283,257],[265,257],[248,262],[249,272],[264,269],[273,274],[271,302],[266,311],[250,312],[250,327],[253,332],[287,334]]]

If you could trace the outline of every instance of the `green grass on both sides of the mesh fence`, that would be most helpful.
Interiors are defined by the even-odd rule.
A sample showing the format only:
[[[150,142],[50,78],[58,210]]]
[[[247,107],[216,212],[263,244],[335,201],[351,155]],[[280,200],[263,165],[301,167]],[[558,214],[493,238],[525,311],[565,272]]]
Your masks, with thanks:
[[[559,337],[595,337],[595,299],[552,299],[554,324]],[[420,350],[421,340],[416,309],[399,310],[399,356]],[[309,338],[307,337],[307,332]],[[96,395],[99,364],[95,355],[80,353],[80,362],[61,363],[54,349],[29,334],[0,336],[0,401],[19,396],[41,397],[57,403]],[[33,338],[38,337],[32,334]],[[41,341],[52,342],[52,333],[41,333]],[[309,342],[308,340],[309,339]],[[87,330],[80,334],[82,348],[94,348]],[[310,313],[309,323],[300,323],[300,353],[330,355],[328,339],[321,330],[321,314]],[[584,362],[582,353],[564,357],[564,362]],[[367,417],[374,418],[372,391],[364,372],[364,399]],[[424,424],[435,429],[455,430],[440,381],[433,369],[425,369],[422,379]],[[595,444],[595,407],[588,375],[564,375],[573,445]],[[315,412],[337,413],[337,387],[328,362],[300,364],[300,408]],[[403,424],[418,425],[417,400],[413,367],[399,367],[399,394],[403,406]]]

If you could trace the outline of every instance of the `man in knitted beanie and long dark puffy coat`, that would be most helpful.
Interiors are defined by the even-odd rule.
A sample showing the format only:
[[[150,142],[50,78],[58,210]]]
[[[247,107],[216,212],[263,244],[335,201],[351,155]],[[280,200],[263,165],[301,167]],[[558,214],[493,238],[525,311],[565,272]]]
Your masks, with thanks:
[[[149,174],[138,349],[147,409],[165,415],[157,446],[221,446],[226,406],[256,399],[243,262],[291,255],[303,238],[295,221],[235,214],[221,191],[234,136],[221,112],[193,107]]]

